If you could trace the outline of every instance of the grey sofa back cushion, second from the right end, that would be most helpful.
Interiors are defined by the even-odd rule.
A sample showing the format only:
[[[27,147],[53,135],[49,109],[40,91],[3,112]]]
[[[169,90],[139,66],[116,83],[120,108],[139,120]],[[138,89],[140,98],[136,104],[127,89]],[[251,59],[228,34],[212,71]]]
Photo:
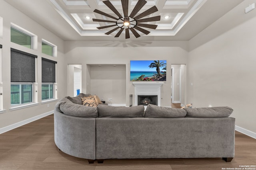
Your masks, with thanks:
[[[185,117],[186,110],[148,104],[144,117]]]

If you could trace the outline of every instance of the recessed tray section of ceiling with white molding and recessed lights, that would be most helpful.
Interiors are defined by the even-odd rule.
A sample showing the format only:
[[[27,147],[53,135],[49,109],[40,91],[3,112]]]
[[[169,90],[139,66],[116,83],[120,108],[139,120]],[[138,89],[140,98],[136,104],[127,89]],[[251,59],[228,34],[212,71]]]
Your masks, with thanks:
[[[101,10],[112,16],[116,16],[102,1],[104,0],[50,0],[59,14],[81,35],[81,36],[110,36],[104,33],[113,28],[98,30],[96,27],[111,25],[113,23],[99,23],[92,18],[106,20],[105,16],[96,14],[95,9]],[[160,21],[150,22],[156,24],[156,30],[149,30],[150,34],[144,36],[174,36],[186,24],[190,18],[203,6],[207,0],[147,0],[146,5],[138,14],[156,6],[158,12],[147,17],[161,16]],[[121,0],[110,0],[115,8],[123,15]],[[138,0],[129,1],[129,13]],[[165,18],[165,17],[169,18]],[[116,34],[117,31],[113,33]]]

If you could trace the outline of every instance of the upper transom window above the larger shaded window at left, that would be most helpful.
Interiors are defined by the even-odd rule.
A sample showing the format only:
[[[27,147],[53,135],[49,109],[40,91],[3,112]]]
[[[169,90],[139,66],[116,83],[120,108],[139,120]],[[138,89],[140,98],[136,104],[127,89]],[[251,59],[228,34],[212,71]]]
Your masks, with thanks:
[[[11,25],[11,42],[33,49],[33,38],[32,33]]]

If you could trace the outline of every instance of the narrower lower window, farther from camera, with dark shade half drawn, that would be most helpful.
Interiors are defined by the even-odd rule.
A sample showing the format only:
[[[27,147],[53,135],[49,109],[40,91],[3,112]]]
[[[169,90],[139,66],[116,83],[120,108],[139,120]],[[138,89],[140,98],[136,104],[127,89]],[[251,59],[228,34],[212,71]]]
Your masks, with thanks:
[[[56,61],[42,58],[42,100],[54,98],[54,83],[56,82]]]

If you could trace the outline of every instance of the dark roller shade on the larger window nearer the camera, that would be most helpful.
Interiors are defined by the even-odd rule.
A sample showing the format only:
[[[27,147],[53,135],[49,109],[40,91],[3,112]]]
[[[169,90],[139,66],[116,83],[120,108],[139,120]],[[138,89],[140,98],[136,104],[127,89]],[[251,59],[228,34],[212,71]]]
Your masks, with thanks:
[[[11,48],[11,82],[36,82],[36,58]]]

